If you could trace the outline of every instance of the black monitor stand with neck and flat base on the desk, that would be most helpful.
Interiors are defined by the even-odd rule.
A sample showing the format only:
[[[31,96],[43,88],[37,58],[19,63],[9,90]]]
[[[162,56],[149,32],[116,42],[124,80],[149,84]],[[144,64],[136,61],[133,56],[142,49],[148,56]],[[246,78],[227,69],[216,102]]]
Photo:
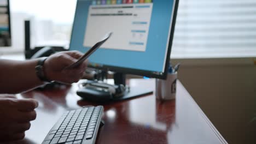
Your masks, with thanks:
[[[116,98],[114,101],[132,99],[136,97],[142,97],[144,95],[153,94],[153,89],[150,88],[141,88],[141,87],[132,87],[126,85],[126,75],[123,73],[114,74],[114,83],[115,85],[124,85],[126,86],[126,91],[123,97]]]

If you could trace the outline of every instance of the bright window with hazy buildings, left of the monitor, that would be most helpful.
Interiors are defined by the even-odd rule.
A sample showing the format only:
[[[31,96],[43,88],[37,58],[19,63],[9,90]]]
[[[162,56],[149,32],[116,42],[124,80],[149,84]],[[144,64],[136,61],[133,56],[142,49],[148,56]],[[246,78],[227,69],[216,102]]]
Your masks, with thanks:
[[[68,45],[76,0],[10,0],[11,47],[0,53],[22,52],[24,21],[31,20],[31,46]]]

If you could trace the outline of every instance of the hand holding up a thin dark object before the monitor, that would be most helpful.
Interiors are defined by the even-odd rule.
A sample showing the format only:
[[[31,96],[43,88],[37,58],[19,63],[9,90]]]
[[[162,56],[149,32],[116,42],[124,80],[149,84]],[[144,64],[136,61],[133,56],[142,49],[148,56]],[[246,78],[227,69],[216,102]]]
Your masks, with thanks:
[[[78,82],[84,75],[88,61],[85,61],[77,68],[65,68],[77,62],[82,56],[83,53],[78,51],[59,52],[51,55],[44,62],[44,73],[47,79],[62,83]]]

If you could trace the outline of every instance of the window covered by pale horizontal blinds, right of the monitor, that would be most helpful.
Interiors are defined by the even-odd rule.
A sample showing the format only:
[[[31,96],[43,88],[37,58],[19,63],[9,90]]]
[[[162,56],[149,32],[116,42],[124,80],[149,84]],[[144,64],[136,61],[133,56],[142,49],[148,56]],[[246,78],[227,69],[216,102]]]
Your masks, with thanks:
[[[180,1],[172,58],[255,56],[256,1]]]

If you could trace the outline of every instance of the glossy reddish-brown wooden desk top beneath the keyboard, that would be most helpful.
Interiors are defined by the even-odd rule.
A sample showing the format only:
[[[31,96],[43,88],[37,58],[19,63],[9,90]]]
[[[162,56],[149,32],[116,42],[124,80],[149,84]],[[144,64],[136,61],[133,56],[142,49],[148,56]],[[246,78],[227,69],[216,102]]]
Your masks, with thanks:
[[[131,80],[130,85],[155,87],[154,80]],[[37,99],[39,107],[26,139],[18,143],[41,143],[63,112],[97,105],[80,100],[77,88],[22,94]],[[153,94],[103,106],[105,125],[96,143],[226,143],[181,82],[177,83],[176,100],[161,102]]]

